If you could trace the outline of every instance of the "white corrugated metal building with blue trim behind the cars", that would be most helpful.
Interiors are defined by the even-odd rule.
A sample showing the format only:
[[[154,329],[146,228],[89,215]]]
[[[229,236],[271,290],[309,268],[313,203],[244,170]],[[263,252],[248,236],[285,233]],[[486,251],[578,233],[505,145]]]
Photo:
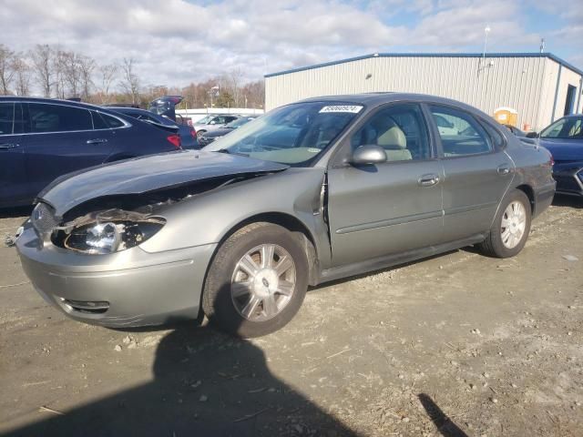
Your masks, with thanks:
[[[431,94],[493,115],[517,111],[517,127],[539,130],[581,112],[583,71],[550,53],[373,54],[265,76],[265,107],[302,98],[373,91]]]

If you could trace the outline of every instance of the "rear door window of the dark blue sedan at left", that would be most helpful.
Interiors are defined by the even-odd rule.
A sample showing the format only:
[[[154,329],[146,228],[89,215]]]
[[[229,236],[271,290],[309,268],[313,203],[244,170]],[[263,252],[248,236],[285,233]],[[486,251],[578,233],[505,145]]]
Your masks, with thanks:
[[[29,103],[28,113],[32,133],[93,130],[91,113],[81,107]]]

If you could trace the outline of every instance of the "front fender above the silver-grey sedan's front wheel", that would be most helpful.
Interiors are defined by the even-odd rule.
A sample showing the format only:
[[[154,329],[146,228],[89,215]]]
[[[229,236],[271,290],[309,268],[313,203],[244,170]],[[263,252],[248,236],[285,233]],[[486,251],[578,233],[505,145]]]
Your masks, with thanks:
[[[160,210],[167,224],[140,245],[148,252],[220,243],[241,222],[264,214],[299,220],[311,233],[322,265],[330,242],[320,209],[322,168],[289,168],[186,198]]]

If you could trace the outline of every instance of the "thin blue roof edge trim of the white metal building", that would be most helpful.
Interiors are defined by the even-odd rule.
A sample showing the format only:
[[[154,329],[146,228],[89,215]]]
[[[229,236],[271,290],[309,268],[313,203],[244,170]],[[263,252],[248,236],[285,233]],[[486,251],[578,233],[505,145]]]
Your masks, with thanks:
[[[345,64],[347,62],[360,61],[362,59],[369,59],[371,57],[482,57],[482,53],[373,53],[371,55],[355,56],[349,57],[347,59],[341,59],[338,61],[325,62],[323,64],[316,64],[313,66],[302,66],[299,68],[292,68],[291,70],[280,71],[277,73],[271,73],[265,75],[265,77],[281,76],[287,75],[289,73],[296,73],[298,71],[312,70],[314,68],[320,68],[322,66],[335,66],[338,64]],[[567,67],[569,70],[573,70],[580,76],[583,76],[583,71],[578,69],[576,66],[572,66],[567,61],[564,61],[558,56],[552,53],[486,53],[486,58],[492,57],[547,57],[557,62],[561,66]]]

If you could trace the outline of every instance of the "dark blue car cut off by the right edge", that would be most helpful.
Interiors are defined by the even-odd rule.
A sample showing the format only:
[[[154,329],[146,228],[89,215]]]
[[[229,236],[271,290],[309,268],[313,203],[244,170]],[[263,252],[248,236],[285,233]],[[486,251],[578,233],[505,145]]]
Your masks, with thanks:
[[[534,141],[553,156],[557,193],[583,197],[583,115],[559,118],[540,134],[527,137],[538,137]]]

